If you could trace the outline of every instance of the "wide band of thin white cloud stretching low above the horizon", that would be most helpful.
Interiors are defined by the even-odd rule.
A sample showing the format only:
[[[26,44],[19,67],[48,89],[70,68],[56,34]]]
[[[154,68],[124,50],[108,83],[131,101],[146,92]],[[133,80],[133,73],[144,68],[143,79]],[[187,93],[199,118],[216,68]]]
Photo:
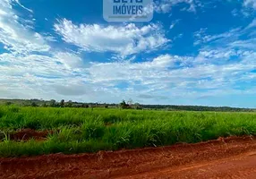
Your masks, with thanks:
[[[215,64],[214,59],[221,62],[230,55],[237,55],[239,60]],[[249,89],[234,90],[234,85],[244,79],[248,82],[256,80],[251,72],[256,68],[256,61],[252,60],[256,53],[252,51],[211,50],[202,51],[198,56],[159,55],[141,63],[91,63],[89,68],[80,68],[75,73],[69,66],[73,64],[65,64],[69,63],[64,60],[66,56],[74,56],[80,63],[80,58],[73,54],[28,55],[25,58],[1,55],[0,61],[6,65],[0,66],[0,83],[3,84],[0,98],[118,102],[132,97],[139,102],[163,103],[169,98],[222,96],[227,91],[230,94],[252,93]],[[201,61],[198,61],[199,57]],[[56,63],[60,61],[63,64]],[[120,82],[129,85],[125,89],[116,87]]]

